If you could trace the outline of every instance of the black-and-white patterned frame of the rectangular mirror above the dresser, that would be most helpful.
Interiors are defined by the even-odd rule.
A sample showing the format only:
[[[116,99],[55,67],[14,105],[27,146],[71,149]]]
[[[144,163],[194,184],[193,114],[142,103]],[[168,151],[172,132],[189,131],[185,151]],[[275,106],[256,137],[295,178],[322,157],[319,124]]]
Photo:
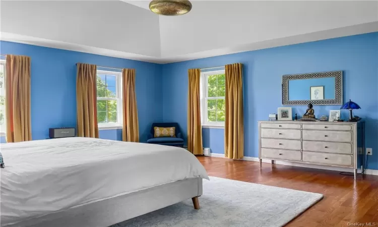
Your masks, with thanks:
[[[289,100],[289,80],[335,77],[335,99],[322,100]],[[343,71],[322,73],[305,73],[282,76],[282,105],[342,105],[343,104]]]

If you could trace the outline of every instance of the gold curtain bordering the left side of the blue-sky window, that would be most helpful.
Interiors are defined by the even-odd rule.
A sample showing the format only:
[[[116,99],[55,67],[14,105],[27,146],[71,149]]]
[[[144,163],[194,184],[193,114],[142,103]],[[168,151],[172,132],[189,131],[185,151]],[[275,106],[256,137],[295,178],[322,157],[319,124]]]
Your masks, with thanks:
[[[77,65],[76,101],[78,136],[98,138],[97,124],[97,67]]]

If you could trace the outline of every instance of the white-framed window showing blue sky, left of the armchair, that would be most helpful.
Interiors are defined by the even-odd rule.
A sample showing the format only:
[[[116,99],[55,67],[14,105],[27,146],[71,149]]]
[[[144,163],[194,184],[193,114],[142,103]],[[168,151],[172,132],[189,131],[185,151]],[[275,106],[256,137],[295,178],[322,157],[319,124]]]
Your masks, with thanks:
[[[97,121],[101,128],[122,128],[120,72],[97,70]]]

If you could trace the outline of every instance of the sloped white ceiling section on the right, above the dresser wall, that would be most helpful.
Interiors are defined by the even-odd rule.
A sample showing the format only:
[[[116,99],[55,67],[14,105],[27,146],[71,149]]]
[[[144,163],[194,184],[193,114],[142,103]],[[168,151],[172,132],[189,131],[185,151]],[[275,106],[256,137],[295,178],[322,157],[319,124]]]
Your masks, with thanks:
[[[159,18],[163,58],[378,20],[377,1],[194,1],[192,4],[193,10],[186,15]]]

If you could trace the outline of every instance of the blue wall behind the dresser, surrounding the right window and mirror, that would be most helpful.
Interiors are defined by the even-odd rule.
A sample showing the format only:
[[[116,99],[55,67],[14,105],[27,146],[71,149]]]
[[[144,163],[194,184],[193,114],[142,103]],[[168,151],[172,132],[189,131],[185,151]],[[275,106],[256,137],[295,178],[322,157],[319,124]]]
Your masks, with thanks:
[[[258,125],[281,102],[281,77],[285,74],[343,70],[343,98],[362,109],[354,111],[366,122],[366,147],[373,149],[368,168],[378,169],[378,33],[241,52],[212,58],[163,65],[163,121],[178,122],[186,132],[187,70],[242,63],[244,98],[244,156],[258,157]],[[293,116],[306,106],[292,106]],[[316,105],[319,118],[340,105]],[[341,117],[348,118],[342,110]],[[204,146],[224,153],[224,130],[203,129]],[[184,135],[186,138],[186,135]]]

